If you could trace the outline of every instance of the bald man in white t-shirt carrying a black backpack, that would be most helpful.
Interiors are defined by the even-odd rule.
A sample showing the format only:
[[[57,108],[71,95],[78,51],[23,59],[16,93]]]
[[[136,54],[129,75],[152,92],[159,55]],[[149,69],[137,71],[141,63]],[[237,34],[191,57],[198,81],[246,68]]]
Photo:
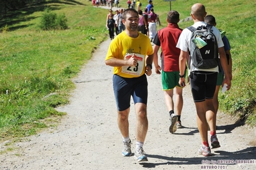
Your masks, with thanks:
[[[214,26],[209,26],[204,22],[207,15],[205,6],[196,3],[191,7],[191,17],[194,21],[192,27],[183,29],[176,47],[180,49],[180,86],[185,86],[185,65],[187,52],[190,54],[189,59],[189,78],[191,83],[192,97],[196,105],[196,122],[200,132],[203,146],[198,153],[207,157],[212,155],[208,142],[208,124],[210,127],[211,144],[218,141],[214,130],[216,129],[216,120],[214,120],[213,97],[216,89],[218,77],[218,53],[225,72],[223,84],[227,89],[231,87],[230,74],[228,74],[228,65],[226,54],[221,40],[221,33]],[[203,47],[197,47],[195,40],[201,42]],[[216,133],[216,131],[215,131]]]

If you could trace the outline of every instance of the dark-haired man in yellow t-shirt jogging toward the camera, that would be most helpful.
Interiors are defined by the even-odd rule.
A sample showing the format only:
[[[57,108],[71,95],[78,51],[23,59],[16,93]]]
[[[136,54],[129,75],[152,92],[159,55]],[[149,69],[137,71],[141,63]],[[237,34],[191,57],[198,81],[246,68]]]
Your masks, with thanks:
[[[114,67],[113,88],[118,113],[117,123],[124,144],[122,155],[124,157],[132,155],[128,122],[132,96],[137,118],[134,157],[142,162],[148,160],[143,150],[148,131],[146,75],[152,73],[153,48],[148,36],[138,31],[139,14],[135,9],[124,11],[123,24],[126,29],[110,43],[105,63]]]

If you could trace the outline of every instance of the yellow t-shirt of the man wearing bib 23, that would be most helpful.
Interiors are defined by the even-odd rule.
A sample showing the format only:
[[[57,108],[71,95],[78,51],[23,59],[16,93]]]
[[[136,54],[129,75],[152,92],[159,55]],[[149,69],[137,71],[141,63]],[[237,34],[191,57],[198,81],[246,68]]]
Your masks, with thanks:
[[[146,56],[154,53],[148,36],[142,33],[137,38],[126,35],[125,31],[120,33],[110,43],[105,60],[128,59],[133,53],[138,61],[137,66],[114,66],[114,74],[126,78],[140,77],[145,73]]]

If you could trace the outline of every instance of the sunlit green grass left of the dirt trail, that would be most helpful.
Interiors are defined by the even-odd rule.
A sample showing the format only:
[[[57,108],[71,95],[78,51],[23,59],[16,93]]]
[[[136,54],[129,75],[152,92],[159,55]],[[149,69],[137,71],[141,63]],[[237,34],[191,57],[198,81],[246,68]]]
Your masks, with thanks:
[[[58,14],[65,13],[69,29],[39,29],[46,5]],[[85,21],[99,20],[105,12],[86,4],[46,3],[24,8],[0,22],[9,29],[1,33],[0,41],[2,140],[36,134],[65,115],[54,108],[68,103],[68,94],[74,88],[71,78],[107,37],[104,24]],[[105,22],[105,17],[99,22]],[[52,120],[46,121],[49,117]]]

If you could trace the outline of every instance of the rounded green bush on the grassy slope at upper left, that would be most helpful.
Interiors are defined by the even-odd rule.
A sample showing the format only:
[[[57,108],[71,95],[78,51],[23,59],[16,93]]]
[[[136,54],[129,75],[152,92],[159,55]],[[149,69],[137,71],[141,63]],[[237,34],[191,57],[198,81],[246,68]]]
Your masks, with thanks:
[[[46,8],[42,14],[40,28],[43,30],[67,29],[67,18],[64,13],[62,15],[57,15],[56,13],[51,12],[50,8]]]

